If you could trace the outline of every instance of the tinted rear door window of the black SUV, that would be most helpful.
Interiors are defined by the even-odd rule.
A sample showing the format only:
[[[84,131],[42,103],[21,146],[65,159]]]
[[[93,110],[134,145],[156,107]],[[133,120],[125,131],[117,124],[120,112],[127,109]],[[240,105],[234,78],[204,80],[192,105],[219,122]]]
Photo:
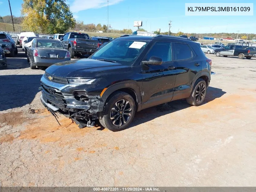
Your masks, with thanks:
[[[192,57],[192,51],[187,44],[175,43],[175,59],[189,59]]]

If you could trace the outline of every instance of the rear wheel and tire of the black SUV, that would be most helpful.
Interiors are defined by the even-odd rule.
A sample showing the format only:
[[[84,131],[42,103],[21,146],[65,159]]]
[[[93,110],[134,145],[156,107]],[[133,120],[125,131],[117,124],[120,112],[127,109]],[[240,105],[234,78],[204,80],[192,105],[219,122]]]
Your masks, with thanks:
[[[199,106],[203,103],[207,93],[207,84],[204,79],[197,79],[187,102],[193,106]]]

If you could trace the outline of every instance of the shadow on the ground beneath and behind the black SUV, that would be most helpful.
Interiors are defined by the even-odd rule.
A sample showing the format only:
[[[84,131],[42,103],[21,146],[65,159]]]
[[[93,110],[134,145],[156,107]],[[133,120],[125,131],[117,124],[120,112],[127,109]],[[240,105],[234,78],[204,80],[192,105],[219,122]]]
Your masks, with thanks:
[[[207,90],[207,95],[204,99],[204,102],[202,105],[213,101],[216,98],[220,98],[223,96],[226,92],[222,91],[222,89],[215,88],[215,87],[209,87]],[[186,101],[186,99],[176,100],[168,103],[164,103],[158,106],[150,107],[148,109],[141,110],[137,113],[135,113],[133,122],[127,127],[127,129],[137,126],[142,123],[146,123],[148,121],[151,121],[155,118],[158,118],[160,116],[173,113],[175,111],[179,111],[182,109],[186,109],[188,107],[191,107]],[[97,121],[95,122],[95,125],[100,126],[97,130],[103,130],[104,127],[100,125],[100,123]]]

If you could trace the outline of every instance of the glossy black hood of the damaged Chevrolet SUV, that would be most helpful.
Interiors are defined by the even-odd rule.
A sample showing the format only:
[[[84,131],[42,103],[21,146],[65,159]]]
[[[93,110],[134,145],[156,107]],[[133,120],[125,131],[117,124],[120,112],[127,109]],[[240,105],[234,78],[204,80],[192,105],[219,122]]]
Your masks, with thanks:
[[[130,66],[95,59],[77,59],[55,63],[45,72],[62,78],[99,78],[105,75],[126,72]]]

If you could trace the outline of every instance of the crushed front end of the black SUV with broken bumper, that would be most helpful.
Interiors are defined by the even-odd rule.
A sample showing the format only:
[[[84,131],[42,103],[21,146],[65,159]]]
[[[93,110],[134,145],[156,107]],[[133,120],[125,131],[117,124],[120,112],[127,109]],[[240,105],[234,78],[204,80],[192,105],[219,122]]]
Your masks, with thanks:
[[[98,79],[89,79],[91,82]],[[100,92],[93,91],[91,82],[70,82],[69,79],[45,74],[41,78],[42,104],[55,116],[62,113],[78,124],[79,128],[93,126],[98,119]],[[92,88],[91,88],[92,87]]]

